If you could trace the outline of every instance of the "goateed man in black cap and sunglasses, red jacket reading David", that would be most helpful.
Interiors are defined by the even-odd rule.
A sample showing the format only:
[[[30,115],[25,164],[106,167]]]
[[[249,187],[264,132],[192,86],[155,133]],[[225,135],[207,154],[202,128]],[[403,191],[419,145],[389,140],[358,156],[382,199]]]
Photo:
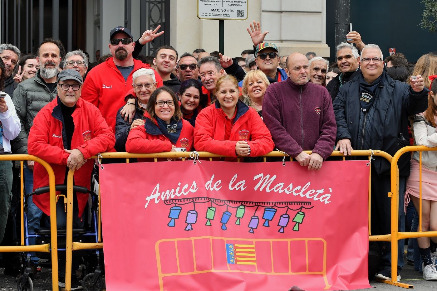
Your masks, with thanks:
[[[158,34],[155,30],[144,32],[145,42],[152,41]],[[94,67],[83,83],[82,98],[96,105],[106,122],[115,132],[115,117],[120,107],[121,115],[126,121],[132,123],[135,115],[135,100],[125,101],[126,93],[132,88],[132,74],[141,68],[149,69],[150,65],[133,59],[132,52],[135,47],[131,31],[118,26],[111,30],[109,49],[111,58]],[[161,76],[155,72],[158,87],[163,86]],[[132,97],[134,98],[134,97]]]

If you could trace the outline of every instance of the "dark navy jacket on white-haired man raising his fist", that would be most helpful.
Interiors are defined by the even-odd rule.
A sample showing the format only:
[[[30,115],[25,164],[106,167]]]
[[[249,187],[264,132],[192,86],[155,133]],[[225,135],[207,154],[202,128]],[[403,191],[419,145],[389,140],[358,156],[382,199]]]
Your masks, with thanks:
[[[358,149],[358,132],[360,126],[359,76],[341,86],[333,107],[337,122],[337,141],[350,139],[352,149]],[[408,117],[423,112],[428,107],[428,92],[414,92],[409,84],[395,81],[385,72],[382,87],[374,97],[372,118],[366,122],[371,136],[366,143],[370,149],[382,150],[391,156],[404,146],[409,145]],[[362,125],[361,125],[362,126]],[[403,155],[398,162],[399,175],[409,176],[410,155]],[[372,166],[378,175],[390,175],[390,163],[384,158],[375,157]]]

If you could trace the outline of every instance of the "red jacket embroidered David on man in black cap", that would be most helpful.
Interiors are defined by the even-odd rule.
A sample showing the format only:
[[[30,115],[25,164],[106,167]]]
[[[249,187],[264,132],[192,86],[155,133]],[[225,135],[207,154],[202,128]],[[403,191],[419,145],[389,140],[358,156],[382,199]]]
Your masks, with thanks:
[[[150,69],[150,66],[134,59],[134,69],[125,81],[115,66],[114,59],[108,58],[106,62],[94,67],[83,83],[81,97],[99,108],[113,132],[117,111],[126,104],[125,96],[132,89],[132,74],[141,68]],[[156,72],[155,79],[158,82],[157,87],[163,86],[163,80]]]

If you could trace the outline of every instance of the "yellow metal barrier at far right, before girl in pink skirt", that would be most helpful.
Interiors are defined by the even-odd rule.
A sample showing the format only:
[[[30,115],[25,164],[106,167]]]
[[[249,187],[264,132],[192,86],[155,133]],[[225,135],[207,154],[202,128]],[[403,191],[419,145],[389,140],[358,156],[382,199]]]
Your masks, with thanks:
[[[397,168],[397,163],[399,158],[406,152],[419,152],[420,153],[420,184],[422,182],[422,152],[423,151],[435,151],[437,148],[428,148],[426,146],[406,146],[402,149],[399,149],[396,152],[395,156],[393,156],[392,160],[392,168],[391,168],[391,192],[388,193],[389,197],[392,197],[391,200],[391,243],[392,243],[392,270],[397,270],[398,268],[398,240],[399,239],[409,239],[409,238],[418,238],[418,237],[429,237],[429,236],[437,236],[437,232],[422,232],[422,209],[420,207],[419,213],[419,232],[399,232],[398,229],[398,213],[399,213],[399,170]],[[422,187],[420,186],[420,195],[422,194]],[[421,197],[421,196],[420,196]],[[422,201],[422,199],[420,199]],[[420,203],[421,205],[421,203]],[[402,205],[403,206],[403,205]],[[392,272],[392,281],[389,280],[381,280],[384,283],[396,285],[403,288],[413,288],[412,285],[399,283],[397,282],[397,274],[396,272]]]

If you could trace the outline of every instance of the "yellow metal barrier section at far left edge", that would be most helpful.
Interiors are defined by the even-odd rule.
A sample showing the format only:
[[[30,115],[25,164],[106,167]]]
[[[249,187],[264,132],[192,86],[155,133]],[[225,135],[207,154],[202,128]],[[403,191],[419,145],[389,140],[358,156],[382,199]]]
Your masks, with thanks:
[[[50,245],[52,249],[58,249],[57,231],[56,231],[56,215],[50,215],[50,232],[51,232],[51,244],[43,244],[36,246],[24,245],[24,191],[23,191],[23,161],[35,161],[40,163],[47,173],[49,174],[49,186],[50,186],[50,213],[56,213],[56,196],[55,196],[55,173],[49,163],[44,160],[31,155],[0,155],[0,161],[21,161],[20,173],[21,173],[21,245],[20,246],[0,246],[0,253],[3,252],[50,252]],[[58,252],[52,252],[52,289],[53,291],[59,290],[58,288]]]

